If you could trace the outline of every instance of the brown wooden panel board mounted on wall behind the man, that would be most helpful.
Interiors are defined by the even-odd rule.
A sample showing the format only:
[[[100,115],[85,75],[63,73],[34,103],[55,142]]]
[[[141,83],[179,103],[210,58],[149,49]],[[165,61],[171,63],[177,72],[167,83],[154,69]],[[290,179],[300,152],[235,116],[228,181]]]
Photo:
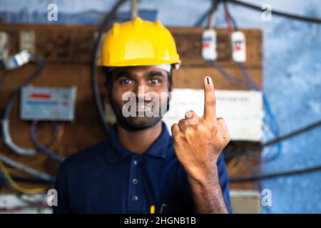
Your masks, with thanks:
[[[76,119],[66,123],[63,138],[56,151],[59,155],[68,156],[89,145],[106,138],[98,118],[98,112],[91,92],[91,57],[94,33],[98,26],[80,25],[0,25],[0,31],[11,33],[11,53],[19,51],[19,31],[33,30],[36,33],[36,52],[46,61],[44,71],[32,83],[34,86],[76,86]],[[240,90],[232,86],[220,76],[210,64],[200,56],[201,32],[203,28],[170,28],[182,58],[182,67],[173,73],[175,88],[202,88],[204,76],[212,76],[215,88]],[[247,37],[248,61],[245,66],[251,78],[258,86],[262,86],[262,33],[260,30],[242,30]],[[230,59],[230,43],[228,30],[218,29],[218,65],[228,73],[241,78],[238,66]],[[5,87],[0,93],[0,112],[9,100],[10,95],[36,69],[36,64],[5,73]],[[4,71],[0,71],[0,80]],[[1,81],[0,81],[1,82]],[[103,97],[103,76],[99,76],[99,88]],[[10,130],[14,141],[22,147],[32,147],[30,123],[19,119],[19,100],[11,112]],[[46,123],[39,133],[41,142],[51,139],[50,124]],[[6,147],[1,151],[20,162],[31,164],[36,157],[15,155]],[[47,161],[34,166],[51,174],[56,172],[57,164]],[[248,175],[247,170],[240,168],[237,175]],[[27,185],[34,186],[34,185]],[[253,189],[253,183],[233,185],[235,188]]]

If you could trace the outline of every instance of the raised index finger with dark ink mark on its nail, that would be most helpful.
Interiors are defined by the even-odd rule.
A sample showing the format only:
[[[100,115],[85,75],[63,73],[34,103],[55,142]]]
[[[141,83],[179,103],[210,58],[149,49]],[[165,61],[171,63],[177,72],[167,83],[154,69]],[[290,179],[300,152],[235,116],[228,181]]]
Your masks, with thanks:
[[[216,122],[216,97],[212,78],[204,78],[204,118]]]

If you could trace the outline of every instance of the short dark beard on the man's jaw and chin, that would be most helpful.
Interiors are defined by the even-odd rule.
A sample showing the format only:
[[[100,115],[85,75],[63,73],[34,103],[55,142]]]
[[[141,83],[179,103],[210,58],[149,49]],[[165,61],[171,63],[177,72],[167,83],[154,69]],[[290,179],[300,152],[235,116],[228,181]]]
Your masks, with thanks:
[[[145,130],[148,128],[153,127],[156,125],[161,119],[163,118],[163,115],[169,110],[169,98],[166,99],[166,110],[164,113],[161,112],[162,105],[158,105],[158,113],[160,115],[151,117],[147,117],[144,115],[143,117],[125,117],[123,116],[123,105],[117,103],[111,95],[109,95],[109,101],[111,103],[111,108],[113,109],[113,113],[116,115],[116,120],[118,125],[120,125],[122,128],[128,130],[128,131],[136,131],[136,130]]]

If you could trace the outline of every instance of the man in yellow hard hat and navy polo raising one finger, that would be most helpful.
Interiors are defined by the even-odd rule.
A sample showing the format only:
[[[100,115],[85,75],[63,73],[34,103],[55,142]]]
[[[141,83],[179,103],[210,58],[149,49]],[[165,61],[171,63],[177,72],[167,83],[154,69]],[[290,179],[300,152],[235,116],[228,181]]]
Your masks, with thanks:
[[[203,117],[188,111],[172,126],[173,138],[161,121],[179,63],[159,21],[113,25],[100,65],[116,125],[106,140],[61,164],[54,213],[231,212],[221,155],[230,135],[216,118],[211,78],[204,79]]]

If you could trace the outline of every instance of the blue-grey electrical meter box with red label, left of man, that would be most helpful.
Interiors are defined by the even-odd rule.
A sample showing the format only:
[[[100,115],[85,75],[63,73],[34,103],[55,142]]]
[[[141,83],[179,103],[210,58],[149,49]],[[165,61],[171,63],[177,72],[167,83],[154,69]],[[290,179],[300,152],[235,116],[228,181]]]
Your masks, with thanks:
[[[22,120],[72,121],[75,115],[76,87],[25,86],[21,89]]]

